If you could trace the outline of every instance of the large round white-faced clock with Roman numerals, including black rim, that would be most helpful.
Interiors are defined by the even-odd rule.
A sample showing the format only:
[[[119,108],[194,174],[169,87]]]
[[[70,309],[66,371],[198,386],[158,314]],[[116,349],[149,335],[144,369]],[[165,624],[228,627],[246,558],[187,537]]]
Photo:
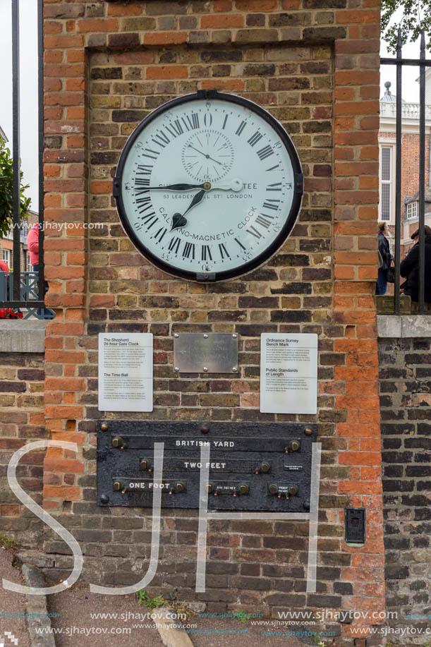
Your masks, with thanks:
[[[135,128],[114,196],[136,248],[183,279],[219,281],[267,261],[289,236],[303,195],[295,147],[257,104],[200,91]]]

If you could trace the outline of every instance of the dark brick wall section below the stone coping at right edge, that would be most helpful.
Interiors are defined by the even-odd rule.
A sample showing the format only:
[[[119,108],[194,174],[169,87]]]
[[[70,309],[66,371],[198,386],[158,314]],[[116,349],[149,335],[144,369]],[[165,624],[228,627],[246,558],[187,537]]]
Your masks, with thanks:
[[[430,610],[430,350],[429,338],[379,341],[387,609],[399,615],[389,625],[423,630],[429,622],[406,615]]]

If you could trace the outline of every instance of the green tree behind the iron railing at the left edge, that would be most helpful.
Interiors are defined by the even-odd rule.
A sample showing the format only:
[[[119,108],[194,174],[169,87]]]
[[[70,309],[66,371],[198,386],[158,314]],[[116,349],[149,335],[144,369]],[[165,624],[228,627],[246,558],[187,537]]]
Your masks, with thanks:
[[[21,218],[28,214],[31,198],[25,198],[24,192],[29,184],[23,184],[23,171],[20,171],[20,206]],[[13,222],[13,159],[11,151],[6,148],[0,137],[0,238],[8,233]]]

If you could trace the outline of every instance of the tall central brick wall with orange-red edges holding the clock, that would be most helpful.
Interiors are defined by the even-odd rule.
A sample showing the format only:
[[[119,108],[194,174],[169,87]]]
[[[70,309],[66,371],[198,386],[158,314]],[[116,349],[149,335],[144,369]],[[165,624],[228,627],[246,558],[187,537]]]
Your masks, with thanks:
[[[133,583],[147,569],[147,514],[95,505],[97,333],[154,334],[154,411],[109,418],[317,421],[323,444],[316,594],[305,593],[303,524],[210,523],[207,591],[194,589],[195,511],[166,511],[154,592],[226,605],[380,610],[384,605],[374,291],[378,200],[378,2],[214,0],[45,4],[45,418],[77,457],[47,452],[44,505],[83,545],[85,578]],[[293,235],[267,265],[215,286],[167,277],[133,250],[111,198],[121,147],[167,99],[198,88],[262,104],[291,133],[305,196]],[[102,223],[102,229],[85,224]],[[58,234],[58,235],[56,235]],[[238,332],[241,371],[178,377],[172,334]],[[261,414],[261,332],[316,332],[318,416]],[[61,454],[61,455],[60,455]],[[63,480],[53,483],[51,478]],[[368,510],[368,540],[343,540],[347,504]],[[64,576],[70,557],[47,534]],[[102,559],[100,556],[103,556]],[[364,569],[364,567],[367,569]],[[151,587],[149,590],[153,590]],[[344,627],[346,635],[348,627]]]

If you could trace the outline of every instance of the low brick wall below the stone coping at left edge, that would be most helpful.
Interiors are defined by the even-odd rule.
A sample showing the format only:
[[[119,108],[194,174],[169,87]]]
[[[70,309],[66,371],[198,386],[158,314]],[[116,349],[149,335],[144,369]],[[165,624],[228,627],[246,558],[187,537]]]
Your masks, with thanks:
[[[6,471],[17,449],[49,437],[44,426],[43,380],[43,354],[0,353],[0,532],[25,547],[40,545],[43,524],[17,500]],[[43,451],[25,454],[16,471],[21,488],[40,505],[43,459]]]

